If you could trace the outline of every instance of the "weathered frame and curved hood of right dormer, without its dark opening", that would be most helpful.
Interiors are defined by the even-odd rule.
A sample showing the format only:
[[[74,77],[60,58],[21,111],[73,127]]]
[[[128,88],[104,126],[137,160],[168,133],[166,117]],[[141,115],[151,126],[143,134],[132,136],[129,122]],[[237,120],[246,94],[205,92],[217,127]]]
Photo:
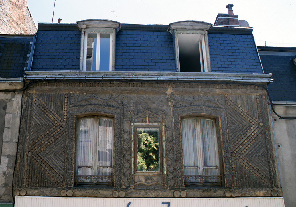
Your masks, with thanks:
[[[171,23],[169,25],[168,31],[173,35],[174,49],[175,49],[175,59],[177,71],[182,72],[180,67],[180,53],[179,53],[179,34],[188,35],[199,35],[200,46],[197,48],[200,54],[200,72],[211,72],[210,64],[210,51],[209,51],[209,41],[208,41],[208,31],[210,30],[212,24],[201,22],[201,21],[181,21]],[[199,71],[196,71],[199,72]]]

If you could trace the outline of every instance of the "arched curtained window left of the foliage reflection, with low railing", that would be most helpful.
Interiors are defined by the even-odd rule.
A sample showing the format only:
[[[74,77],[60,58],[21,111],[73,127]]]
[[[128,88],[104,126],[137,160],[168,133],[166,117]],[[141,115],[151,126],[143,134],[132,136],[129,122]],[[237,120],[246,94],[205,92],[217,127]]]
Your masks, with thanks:
[[[76,184],[113,183],[113,119],[89,116],[78,119]]]

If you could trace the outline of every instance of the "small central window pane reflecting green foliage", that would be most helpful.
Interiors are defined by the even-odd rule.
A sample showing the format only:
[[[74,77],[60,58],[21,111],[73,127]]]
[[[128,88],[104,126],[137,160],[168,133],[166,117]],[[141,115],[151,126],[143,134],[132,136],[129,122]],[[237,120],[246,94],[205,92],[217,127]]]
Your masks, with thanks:
[[[137,171],[160,171],[159,129],[137,129]]]

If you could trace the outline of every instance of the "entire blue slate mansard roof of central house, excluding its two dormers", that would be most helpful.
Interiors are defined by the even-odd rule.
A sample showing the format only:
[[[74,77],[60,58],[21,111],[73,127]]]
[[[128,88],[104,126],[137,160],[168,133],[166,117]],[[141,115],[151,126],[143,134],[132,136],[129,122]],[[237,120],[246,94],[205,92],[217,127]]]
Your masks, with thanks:
[[[81,31],[75,23],[41,23],[31,70],[79,70]],[[176,71],[168,25],[121,24],[115,39],[115,70]],[[252,28],[213,26],[208,33],[211,71],[263,73]]]

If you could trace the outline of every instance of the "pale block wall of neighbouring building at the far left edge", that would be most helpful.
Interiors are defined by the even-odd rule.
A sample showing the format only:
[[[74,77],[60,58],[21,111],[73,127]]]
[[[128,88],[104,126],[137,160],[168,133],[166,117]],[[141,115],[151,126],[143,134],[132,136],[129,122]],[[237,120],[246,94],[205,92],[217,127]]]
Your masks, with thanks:
[[[11,203],[22,92],[0,93],[0,203]],[[2,151],[1,151],[2,150]]]

